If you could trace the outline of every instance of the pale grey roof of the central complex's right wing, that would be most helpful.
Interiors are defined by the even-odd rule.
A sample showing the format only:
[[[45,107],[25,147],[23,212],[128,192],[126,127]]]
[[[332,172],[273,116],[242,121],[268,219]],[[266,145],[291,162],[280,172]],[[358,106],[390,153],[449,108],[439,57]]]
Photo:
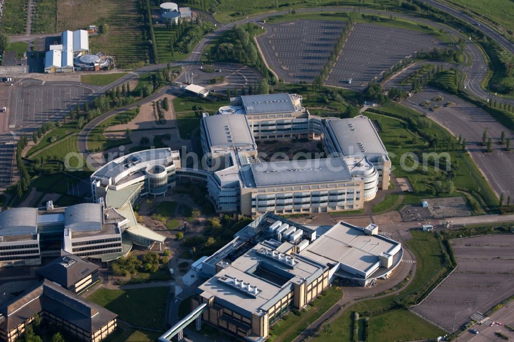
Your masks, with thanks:
[[[328,119],[325,124],[345,157],[370,154],[387,155],[373,122],[365,116],[352,119]]]

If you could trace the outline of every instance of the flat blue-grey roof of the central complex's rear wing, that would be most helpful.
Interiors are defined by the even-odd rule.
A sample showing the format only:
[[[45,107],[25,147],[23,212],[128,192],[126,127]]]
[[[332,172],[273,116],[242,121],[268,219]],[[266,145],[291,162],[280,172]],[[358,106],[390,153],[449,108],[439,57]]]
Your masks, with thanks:
[[[292,104],[291,97],[287,93],[244,95],[241,97],[241,100],[247,114],[281,113],[296,110],[295,105]]]

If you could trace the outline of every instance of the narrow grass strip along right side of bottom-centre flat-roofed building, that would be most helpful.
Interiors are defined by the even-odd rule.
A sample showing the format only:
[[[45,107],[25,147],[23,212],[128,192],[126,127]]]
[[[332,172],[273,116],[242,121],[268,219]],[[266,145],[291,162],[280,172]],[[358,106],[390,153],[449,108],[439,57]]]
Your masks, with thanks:
[[[342,291],[336,287],[330,287],[308,305],[308,311],[302,310],[299,315],[289,312],[278,320],[269,330],[268,341],[292,341],[302,331],[304,331],[311,322],[321,317],[328,309],[330,309],[339,299],[342,298]],[[287,334],[286,330],[293,328]]]

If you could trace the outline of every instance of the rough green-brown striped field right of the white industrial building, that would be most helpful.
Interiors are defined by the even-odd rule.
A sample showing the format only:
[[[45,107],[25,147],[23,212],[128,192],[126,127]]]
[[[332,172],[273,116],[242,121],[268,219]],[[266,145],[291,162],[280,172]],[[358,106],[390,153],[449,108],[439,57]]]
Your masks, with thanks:
[[[121,68],[134,68],[149,61],[148,44],[143,42],[143,24],[139,18],[137,0],[109,0],[99,4],[103,16],[98,23],[108,24],[108,33],[91,36],[89,48],[116,56]],[[95,10],[95,9],[91,9]]]

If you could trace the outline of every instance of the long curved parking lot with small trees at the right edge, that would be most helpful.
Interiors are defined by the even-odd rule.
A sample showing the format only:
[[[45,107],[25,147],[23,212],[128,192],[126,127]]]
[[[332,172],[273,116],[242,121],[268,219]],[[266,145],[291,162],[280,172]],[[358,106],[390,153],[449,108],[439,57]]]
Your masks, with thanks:
[[[443,101],[434,101],[439,95]],[[429,106],[421,106],[425,101]],[[452,107],[446,107],[448,102],[455,103]],[[476,165],[480,167],[487,177],[489,184],[498,194],[504,193],[507,196],[514,196],[514,158],[512,153],[506,152],[505,146],[498,144],[502,131],[505,131],[506,138],[514,141],[514,134],[511,134],[502,124],[496,121],[486,111],[475,107],[472,104],[461,100],[449,93],[425,87],[423,92],[414,94],[411,98],[402,102],[413,109],[425,113],[428,117],[446,127],[455,135],[462,135],[467,141],[467,149]],[[442,107],[433,111],[433,107]],[[486,147],[482,146],[482,134],[484,130],[492,138],[492,152],[487,153]]]

